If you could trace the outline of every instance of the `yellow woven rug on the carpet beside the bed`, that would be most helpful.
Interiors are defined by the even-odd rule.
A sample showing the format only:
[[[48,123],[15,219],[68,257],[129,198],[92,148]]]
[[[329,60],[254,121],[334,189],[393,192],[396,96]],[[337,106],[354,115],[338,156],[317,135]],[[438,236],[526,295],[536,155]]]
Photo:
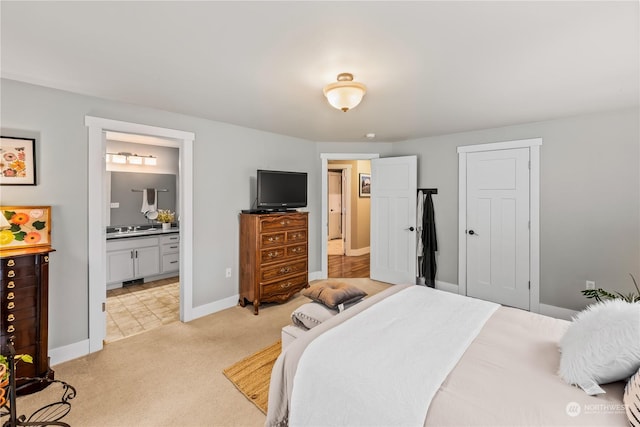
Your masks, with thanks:
[[[269,402],[271,370],[282,351],[280,340],[245,357],[224,369],[222,373],[264,414]]]

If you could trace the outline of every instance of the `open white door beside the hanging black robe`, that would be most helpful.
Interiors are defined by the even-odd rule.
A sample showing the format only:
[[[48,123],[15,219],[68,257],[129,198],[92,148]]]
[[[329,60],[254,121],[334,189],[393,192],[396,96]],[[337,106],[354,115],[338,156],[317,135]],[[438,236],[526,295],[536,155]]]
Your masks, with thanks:
[[[417,157],[371,160],[371,278],[416,280]]]

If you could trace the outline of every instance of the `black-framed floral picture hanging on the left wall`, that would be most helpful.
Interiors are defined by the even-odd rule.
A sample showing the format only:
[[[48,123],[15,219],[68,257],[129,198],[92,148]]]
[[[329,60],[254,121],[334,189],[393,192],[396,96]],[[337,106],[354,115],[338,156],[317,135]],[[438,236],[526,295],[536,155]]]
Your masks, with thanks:
[[[36,185],[36,140],[0,137],[0,185]]]

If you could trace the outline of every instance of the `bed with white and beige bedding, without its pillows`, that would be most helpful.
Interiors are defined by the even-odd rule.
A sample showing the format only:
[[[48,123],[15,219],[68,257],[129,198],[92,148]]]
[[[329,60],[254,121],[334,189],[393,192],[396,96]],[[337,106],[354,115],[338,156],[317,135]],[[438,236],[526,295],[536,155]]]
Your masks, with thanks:
[[[430,288],[392,286],[283,350],[266,425],[628,425],[624,382],[589,396],[557,375],[568,325]]]

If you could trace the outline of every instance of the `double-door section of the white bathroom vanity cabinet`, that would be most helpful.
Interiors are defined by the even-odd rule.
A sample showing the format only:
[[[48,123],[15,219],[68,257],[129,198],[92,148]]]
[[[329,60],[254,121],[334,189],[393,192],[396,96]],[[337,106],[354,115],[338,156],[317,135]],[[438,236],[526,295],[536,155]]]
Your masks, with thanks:
[[[107,284],[160,274],[160,238],[107,241]]]

